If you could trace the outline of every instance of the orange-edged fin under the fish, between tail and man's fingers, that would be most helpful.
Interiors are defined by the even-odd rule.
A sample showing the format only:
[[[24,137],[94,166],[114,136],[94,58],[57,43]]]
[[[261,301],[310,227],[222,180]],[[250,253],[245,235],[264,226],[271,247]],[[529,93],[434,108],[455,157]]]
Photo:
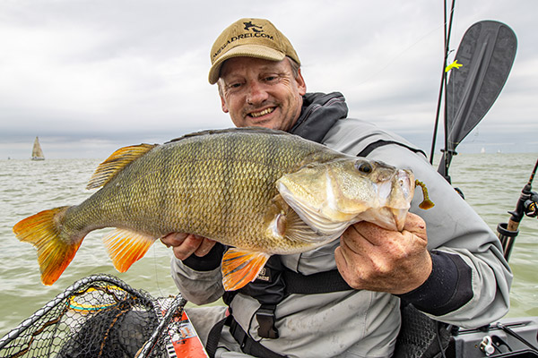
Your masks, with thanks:
[[[108,256],[119,272],[126,272],[137,260],[143,258],[146,251],[157,240],[147,234],[127,229],[116,229],[103,238]]]

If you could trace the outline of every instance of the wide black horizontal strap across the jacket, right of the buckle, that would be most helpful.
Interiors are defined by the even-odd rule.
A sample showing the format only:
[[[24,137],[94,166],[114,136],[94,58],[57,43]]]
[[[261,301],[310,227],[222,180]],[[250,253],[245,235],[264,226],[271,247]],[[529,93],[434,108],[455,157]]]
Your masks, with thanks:
[[[301,275],[287,269],[283,272],[283,276],[286,282],[286,294],[327,294],[353,290],[337,269],[312,275]]]

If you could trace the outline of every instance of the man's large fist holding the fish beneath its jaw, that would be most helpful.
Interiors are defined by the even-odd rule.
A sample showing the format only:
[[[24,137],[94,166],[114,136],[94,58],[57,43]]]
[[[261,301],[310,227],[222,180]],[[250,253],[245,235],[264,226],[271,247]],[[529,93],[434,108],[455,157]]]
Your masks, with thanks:
[[[336,266],[353,288],[406,294],[431,273],[426,223],[408,213],[400,233],[360,222],[348,227],[334,251]]]

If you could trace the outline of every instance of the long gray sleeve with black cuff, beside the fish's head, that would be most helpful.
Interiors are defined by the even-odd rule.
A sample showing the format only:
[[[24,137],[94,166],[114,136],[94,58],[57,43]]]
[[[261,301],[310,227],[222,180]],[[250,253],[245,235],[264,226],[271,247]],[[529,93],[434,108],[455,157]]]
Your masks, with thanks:
[[[366,150],[369,143],[380,141],[388,144]],[[368,158],[412,169],[428,187],[435,207],[419,209],[422,193],[417,188],[410,211],[426,222],[433,268],[422,286],[400,295],[404,302],[435,320],[464,328],[481,327],[508,312],[512,273],[497,235],[427,158],[412,150],[416,147],[394,133],[350,118],[335,125],[324,142],[347,154],[368,152]]]

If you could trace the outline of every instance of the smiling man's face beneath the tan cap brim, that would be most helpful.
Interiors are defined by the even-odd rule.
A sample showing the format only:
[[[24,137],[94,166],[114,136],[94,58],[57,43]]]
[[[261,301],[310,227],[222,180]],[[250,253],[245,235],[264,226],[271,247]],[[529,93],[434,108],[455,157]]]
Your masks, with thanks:
[[[307,91],[290,60],[234,57],[221,67],[222,111],[237,127],[261,126],[288,131],[297,121]]]

